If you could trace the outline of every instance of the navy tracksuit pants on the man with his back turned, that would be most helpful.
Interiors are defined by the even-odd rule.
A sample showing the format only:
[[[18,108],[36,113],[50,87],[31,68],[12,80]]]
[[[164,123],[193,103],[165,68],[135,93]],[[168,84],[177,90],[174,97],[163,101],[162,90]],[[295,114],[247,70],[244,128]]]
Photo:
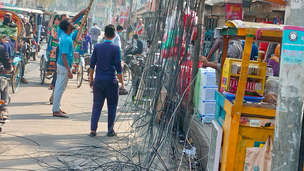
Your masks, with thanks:
[[[93,111],[91,118],[91,130],[96,131],[105,99],[108,105],[108,132],[114,132],[114,120],[118,104],[119,88],[117,80],[98,80],[93,83]]]

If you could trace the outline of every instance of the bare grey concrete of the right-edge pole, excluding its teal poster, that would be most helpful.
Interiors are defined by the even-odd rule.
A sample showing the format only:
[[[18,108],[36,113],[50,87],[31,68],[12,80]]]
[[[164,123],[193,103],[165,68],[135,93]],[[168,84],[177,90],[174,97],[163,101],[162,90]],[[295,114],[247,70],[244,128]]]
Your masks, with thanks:
[[[286,2],[285,25],[304,27],[303,5],[301,1]],[[299,35],[298,39],[301,36],[304,35]],[[282,61],[281,58],[271,171],[296,171],[298,164],[299,167],[303,166],[303,163],[298,162],[303,119],[304,65],[284,65]]]

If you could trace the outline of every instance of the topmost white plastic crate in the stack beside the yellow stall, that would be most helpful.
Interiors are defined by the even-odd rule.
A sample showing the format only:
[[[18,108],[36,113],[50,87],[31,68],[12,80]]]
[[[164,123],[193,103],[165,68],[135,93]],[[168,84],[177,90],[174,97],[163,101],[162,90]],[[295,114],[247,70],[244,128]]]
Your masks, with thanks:
[[[208,67],[201,71],[201,87],[212,87],[216,85],[215,69]]]

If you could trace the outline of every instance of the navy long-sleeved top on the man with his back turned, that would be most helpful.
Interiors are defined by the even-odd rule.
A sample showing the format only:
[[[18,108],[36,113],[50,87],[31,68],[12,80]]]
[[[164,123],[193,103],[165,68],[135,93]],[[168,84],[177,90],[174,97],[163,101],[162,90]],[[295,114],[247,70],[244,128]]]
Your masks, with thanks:
[[[95,79],[116,80],[116,72],[123,72],[119,46],[110,40],[97,44],[90,60],[90,68],[94,69],[95,65]]]

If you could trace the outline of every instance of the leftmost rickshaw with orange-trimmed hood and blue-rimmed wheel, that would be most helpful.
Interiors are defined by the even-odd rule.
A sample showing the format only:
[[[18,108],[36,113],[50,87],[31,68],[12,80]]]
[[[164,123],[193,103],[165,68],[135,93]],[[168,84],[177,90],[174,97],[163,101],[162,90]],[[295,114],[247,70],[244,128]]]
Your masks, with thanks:
[[[7,12],[10,12],[10,11],[0,10],[0,21],[3,21],[4,15]],[[17,25],[17,29],[18,29],[16,43],[13,44],[13,42],[12,42],[12,44],[15,47],[11,53],[11,62],[13,63],[14,71],[12,71],[10,73],[8,73],[6,71],[1,71],[1,76],[10,78],[11,83],[12,83],[12,91],[15,93],[15,92],[17,92],[17,90],[19,88],[20,80],[21,80],[21,56],[16,55],[18,53],[18,52],[16,53],[16,49],[21,44],[24,29],[23,29],[21,19],[15,13],[12,13],[12,21]],[[0,37],[4,37],[4,36],[5,35],[0,35]]]

